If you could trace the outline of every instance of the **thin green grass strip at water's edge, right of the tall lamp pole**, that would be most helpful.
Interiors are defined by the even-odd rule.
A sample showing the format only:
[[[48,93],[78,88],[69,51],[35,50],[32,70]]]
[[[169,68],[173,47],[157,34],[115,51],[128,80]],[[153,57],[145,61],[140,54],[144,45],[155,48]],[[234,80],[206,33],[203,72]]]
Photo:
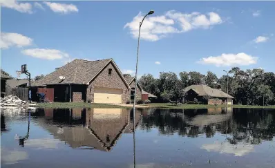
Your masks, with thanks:
[[[170,103],[151,103],[144,104],[146,106],[154,106],[156,108],[168,108],[168,109],[209,109],[216,107],[226,107],[225,104],[222,105],[209,105],[209,104],[182,104],[182,106],[175,106]],[[230,106],[230,105],[229,105]],[[259,109],[275,109],[275,106],[246,106],[246,105],[232,105],[234,108],[259,108]]]

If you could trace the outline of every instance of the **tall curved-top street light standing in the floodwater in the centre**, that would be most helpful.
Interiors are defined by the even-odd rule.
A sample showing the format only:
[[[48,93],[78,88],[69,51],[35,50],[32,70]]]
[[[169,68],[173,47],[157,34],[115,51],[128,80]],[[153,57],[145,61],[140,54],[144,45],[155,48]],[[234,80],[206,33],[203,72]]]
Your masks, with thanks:
[[[140,22],[140,28],[142,27],[142,23],[145,19],[146,16],[153,14],[154,11],[150,10],[142,19],[142,22]],[[140,49],[140,29],[138,30],[138,52]],[[135,167],[135,101],[137,98],[137,87],[138,87],[138,52],[137,52],[137,61],[135,64],[135,95],[134,95],[134,100],[133,100],[133,149],[134,149],[134,167]]]

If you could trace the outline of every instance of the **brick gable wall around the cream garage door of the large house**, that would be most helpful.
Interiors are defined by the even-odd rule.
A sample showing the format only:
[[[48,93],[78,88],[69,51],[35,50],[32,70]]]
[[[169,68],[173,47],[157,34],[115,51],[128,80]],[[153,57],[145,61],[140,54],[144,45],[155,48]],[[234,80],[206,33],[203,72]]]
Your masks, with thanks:
[[[112,74],[108,75],[108,69],[112,69]],[[93,95],[95,91],[95,87],[102,87],[102,88],[120,88],[122,89],[122,103],[126,104],[127,101],[130,100],[130,89],[122,80],[119,73],[115,70],[113,64],[109,63],[104,70],[99,73],[95,80],[89,84],[87,87],[87,101],[93,101]]]

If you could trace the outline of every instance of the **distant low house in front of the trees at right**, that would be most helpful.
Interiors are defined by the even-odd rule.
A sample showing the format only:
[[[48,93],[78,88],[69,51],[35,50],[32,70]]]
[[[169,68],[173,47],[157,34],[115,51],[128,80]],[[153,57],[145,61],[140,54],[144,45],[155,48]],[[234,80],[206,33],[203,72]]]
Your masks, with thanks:
[[[194,101],[196,98],[198,102],[204,102],[205,104],[226,104],[228,97],[228,104],[233,104],[234,99],[231,95],[227,95],[227,93],[211,88],[205,84],[188,86],[184,89],[184,92],[187,102]],[[208,99],[205,100],[204,97],[208,97]]]

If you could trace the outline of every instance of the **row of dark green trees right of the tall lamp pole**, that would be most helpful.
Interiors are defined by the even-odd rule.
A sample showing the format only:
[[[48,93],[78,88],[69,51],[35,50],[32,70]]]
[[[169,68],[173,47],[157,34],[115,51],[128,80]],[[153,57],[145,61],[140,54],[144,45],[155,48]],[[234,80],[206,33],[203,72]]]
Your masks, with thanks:
[[[241,70],[231,68],[228,72],[228,92],[234,97],[234,104],[243,105],[274,105],[275,104],[275,74],[265,72],[261,68]],[[158,96],[158,101],[168,102],[178,100],[184,95],[184,88],[193,84],[206,84],[227,93],[227,75],[218,78],[208,71],[206,75],[196,71],[160,72],[160,77],[144,74],[138,80],[144,91]]]

